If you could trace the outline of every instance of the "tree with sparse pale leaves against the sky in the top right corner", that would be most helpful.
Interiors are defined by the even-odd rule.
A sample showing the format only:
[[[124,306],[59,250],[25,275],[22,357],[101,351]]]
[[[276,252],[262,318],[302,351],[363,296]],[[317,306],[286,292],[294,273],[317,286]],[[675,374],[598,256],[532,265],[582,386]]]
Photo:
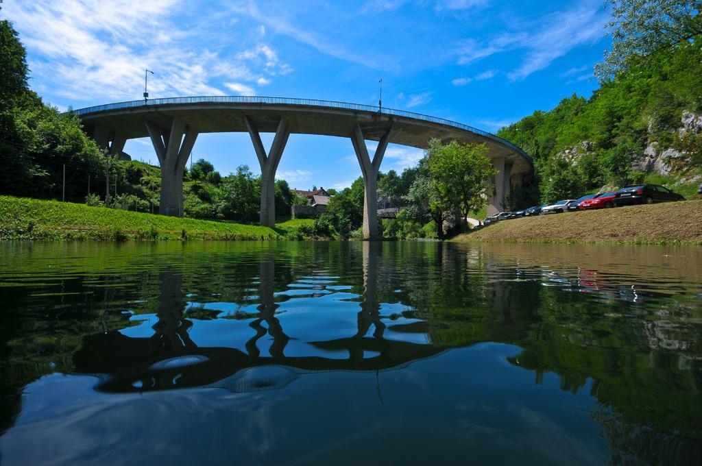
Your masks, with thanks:
[[[607,80],[642,59],[702,34],[700,0],[607,0],[610,51],[595,65],[595,75]]]

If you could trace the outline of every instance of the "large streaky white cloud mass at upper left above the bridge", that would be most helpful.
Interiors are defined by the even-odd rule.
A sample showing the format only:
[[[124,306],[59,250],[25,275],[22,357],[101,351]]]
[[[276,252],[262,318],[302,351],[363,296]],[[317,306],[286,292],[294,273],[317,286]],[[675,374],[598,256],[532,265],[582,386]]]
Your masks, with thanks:
[[[182,8],[176,0],[45,0],[5,4],[3,13],[27,46],[32,74],[72,100],[138,99],[145,68],[155,72],[152,98],[222,95],[220,80],[256,85],[289,72],[270,46],[247,60],[216,46],[230,32],[181,27],[171,17]]]

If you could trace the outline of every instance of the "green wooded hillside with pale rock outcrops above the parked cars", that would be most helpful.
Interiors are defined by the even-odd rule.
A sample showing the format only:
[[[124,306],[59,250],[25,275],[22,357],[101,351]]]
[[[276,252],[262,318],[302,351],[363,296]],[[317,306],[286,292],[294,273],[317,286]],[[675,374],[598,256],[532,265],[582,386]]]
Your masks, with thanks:
[[[702,22],[682,0],[610,1],[600,88],[502,128],[536,179],[506,208],[652,182],[685,196],[702,182]]]

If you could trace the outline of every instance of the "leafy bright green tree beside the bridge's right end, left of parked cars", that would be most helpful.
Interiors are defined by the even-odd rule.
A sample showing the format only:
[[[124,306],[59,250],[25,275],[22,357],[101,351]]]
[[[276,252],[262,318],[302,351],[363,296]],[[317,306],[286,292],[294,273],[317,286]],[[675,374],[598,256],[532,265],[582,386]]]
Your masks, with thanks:
[[[429,173],[436,193],[432,204],[436,203],[436,208],[458,208],[465,222],[471,211],[486,205],[489,180],[498,171],[487,157],[484,144],[451,141],[442,145],[438,140],[432,140],[429,145]],[[435,208],[432,207],[433,210]]]

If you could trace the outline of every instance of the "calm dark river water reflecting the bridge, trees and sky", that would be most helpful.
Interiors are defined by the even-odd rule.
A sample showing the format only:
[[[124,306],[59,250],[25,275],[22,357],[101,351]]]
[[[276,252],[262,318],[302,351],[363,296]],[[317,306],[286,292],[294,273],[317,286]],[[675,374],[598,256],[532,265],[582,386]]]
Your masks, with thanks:
[[[0,463],[694,463],[702,248],[0,244]]]

